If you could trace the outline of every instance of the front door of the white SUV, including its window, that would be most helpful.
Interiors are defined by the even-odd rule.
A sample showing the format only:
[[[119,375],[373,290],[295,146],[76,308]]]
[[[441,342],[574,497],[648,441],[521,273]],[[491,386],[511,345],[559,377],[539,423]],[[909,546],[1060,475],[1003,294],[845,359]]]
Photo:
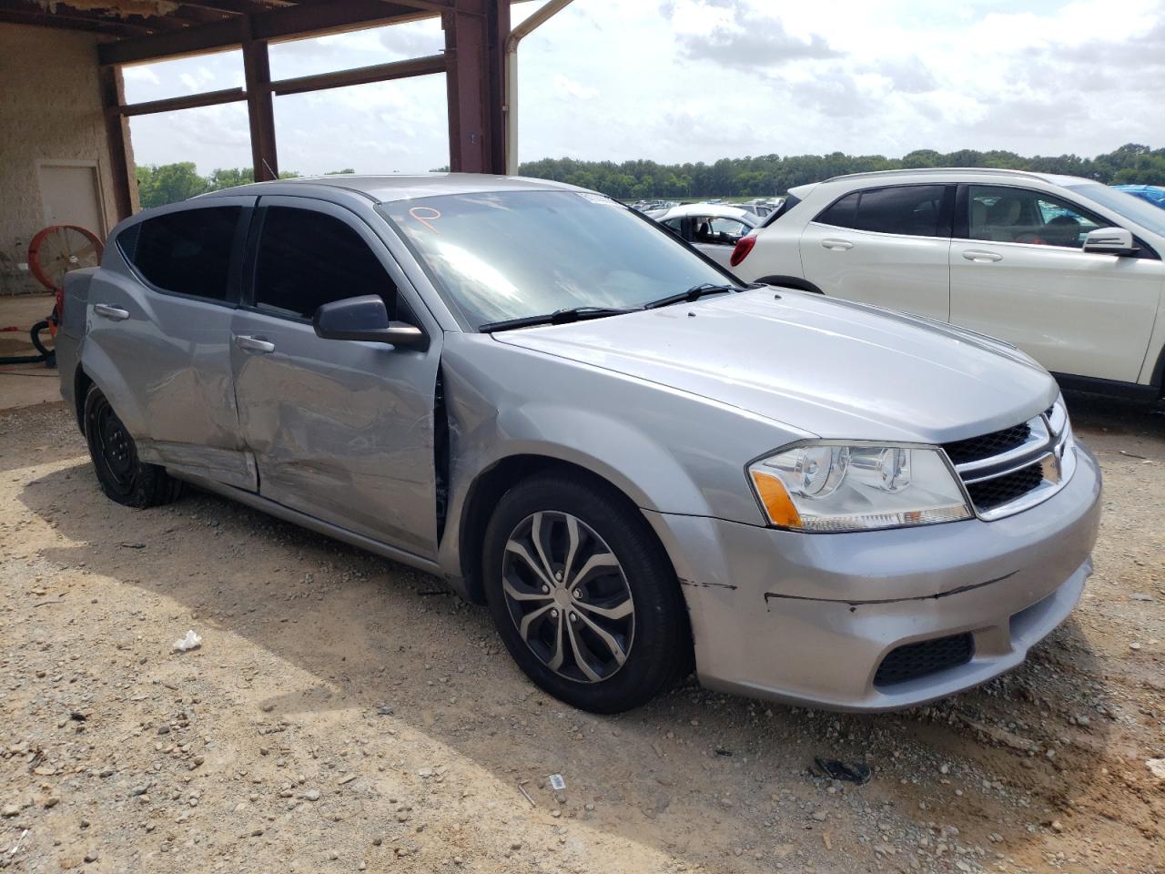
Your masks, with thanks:
[[[1083,252],[1085,235],[1109,223],[1042,191],[969,185],[960,212],[952,323],[1053,373],[1136,382],[1165,290],[1162,261]]]

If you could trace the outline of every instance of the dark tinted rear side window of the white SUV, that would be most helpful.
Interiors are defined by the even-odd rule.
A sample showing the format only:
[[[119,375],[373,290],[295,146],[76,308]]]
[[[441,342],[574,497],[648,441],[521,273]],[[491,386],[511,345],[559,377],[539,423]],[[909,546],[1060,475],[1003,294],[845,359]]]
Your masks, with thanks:
[[[944,220],[947,185],[895,185],[854,191],[835,202],[817,220],[825,225],[850,227],[910,237],[948,237]]]

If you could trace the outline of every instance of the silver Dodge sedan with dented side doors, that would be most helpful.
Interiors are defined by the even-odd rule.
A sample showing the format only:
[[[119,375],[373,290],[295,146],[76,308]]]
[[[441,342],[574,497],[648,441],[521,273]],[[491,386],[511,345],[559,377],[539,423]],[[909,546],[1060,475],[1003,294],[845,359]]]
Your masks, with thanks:
[[[1080,597],[1100,472],[1002,343],[742,289],[521,178],[329,176],[140,213],[68,280],[98,481],[183,482],[444,578],[578,707],[919,704]]]

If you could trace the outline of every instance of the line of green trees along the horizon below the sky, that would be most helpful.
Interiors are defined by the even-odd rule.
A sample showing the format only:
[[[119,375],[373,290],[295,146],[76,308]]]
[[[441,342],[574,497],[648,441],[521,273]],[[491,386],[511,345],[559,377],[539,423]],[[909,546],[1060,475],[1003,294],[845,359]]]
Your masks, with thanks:
[[[518,168],[522,176],[566,182],[602,191],[621,200],[649,198],[691,199],[706,197],[771,197],[831,176],[871,170],[922,167],[997,167],[1068,176],[1083,176],[1108,185],[1141,183],[1165,185],[1165,148],[1128,143],[1095,157],[1059,155],[1024,157],[1015,151],[960,149],[940,153],[918,149],[902,157],[884,155],[758,155],[723,157],[713,163],[661,164],[655,161],[578,161],[570,157],[529,161]],[[449,168],[440,168],[449,169]],[[352,172],[333,170],[332,172]],[[296,178],[297,172],[281,172]],[[253,181],[249,169],[219,169],[199,176],[191,162],[137,168],[142,206],[183,200]]]

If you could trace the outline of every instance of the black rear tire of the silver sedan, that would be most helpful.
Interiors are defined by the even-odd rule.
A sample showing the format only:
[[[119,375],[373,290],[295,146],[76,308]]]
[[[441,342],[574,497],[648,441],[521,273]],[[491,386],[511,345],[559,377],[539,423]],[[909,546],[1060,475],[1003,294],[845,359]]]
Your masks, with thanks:
[[[157,507],[182,494],[182,481],[137,459],[137,444],[97,386],[85,395],[85,442],[105,496],[126,507]]]

